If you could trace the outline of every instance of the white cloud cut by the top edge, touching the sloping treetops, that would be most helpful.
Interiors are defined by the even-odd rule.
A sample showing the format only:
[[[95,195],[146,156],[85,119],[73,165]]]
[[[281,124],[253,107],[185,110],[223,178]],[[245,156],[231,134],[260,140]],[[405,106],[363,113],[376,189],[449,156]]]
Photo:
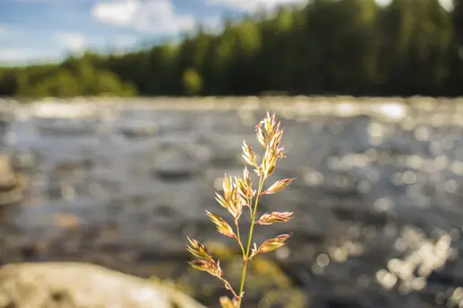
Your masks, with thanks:
[[[261,8],[271,11],[281,4],[307,4],[307,0],[208,0],[209,5],[224,5],[239,11],[255,12]]]

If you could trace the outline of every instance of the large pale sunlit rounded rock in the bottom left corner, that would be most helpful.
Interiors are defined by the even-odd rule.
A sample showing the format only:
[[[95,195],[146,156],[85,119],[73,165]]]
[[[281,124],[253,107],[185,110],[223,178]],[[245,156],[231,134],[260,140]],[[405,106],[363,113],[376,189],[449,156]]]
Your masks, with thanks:
[[[86,263],[0,268],[0,308],[205,308],[161,282]]]

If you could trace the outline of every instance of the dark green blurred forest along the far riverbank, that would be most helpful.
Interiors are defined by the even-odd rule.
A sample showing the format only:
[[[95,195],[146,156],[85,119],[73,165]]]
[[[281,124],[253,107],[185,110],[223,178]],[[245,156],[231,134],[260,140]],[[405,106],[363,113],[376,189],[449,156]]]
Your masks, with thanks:
[[[122,55],[0,68],[0,96],[459,96],[463,0],[312,0]]]

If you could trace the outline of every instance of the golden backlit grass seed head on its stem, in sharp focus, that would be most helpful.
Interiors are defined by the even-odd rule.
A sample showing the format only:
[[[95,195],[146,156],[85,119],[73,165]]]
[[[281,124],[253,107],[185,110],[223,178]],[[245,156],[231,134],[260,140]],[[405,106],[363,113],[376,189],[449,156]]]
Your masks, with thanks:
[[[254,153],[251,145],[243,141],[243,158],[245,162],[254,167],[254,173],[259,177],[259,183],[253,187],[251,174],[247,167],[243,170],[242,177],[234,177],[233,179],[225,174],[223,180],[223,195],[216,192],[216,200],[221,207],[227,209],[228,213],[233,217],[235,230],[232,225],[216,214],[206,210],[209,219],[216,225],[218,233],[222,233],[227,237],[236,239],[238,246],[241,249],[243,257],[243,268],[241,275],[241,282],[239,292],[230,285],[224,277],[224,272],[220,268],[219,261],[214,260],[206,247],[194,240],[188,238],[190,245],[187,250],[191,252],[195,260],[189,263],[193,268],[205,271],[217,277],[224,283],[225,288],[231,292],[232,298],[222,296],[219,298],[222,308],[240,308],[245,295],[245,275],[247,264],[259,253],[266,253],[275,251],[281,246],[285,245],[288,241],[290,234],[280,234],[276,237],[264,241],[259,247],[254,243],[252,246],[252,239],[254,233],[254,225],[270,225],[274,223],[288,222],[292,217],[292,212],[272,212],[265,213],[259,219],[255,219],[257,215],[257,207],[259,205],[259,198],[264,195],[272,195],[286,189],[289,184],[295,179],[284,179],[275,181],[268,189],[263,189],[263,184],[272,173],[275,171],[279,159],[286,158],[285,149],[281,145],[283,129],[280,129],[280,121],[277,121],[275,115],[272,116],[267,112],[266,118],[261,120],[255,126],[255,134],[259,145],[263,146],[263,159],[262,162],[257,161],[257,155]],[[242,237],[239,229],[239,218],[243,214],[244,207],[249,208],[251,217],[251,224],[247,233],[247,244],[242,242]]]

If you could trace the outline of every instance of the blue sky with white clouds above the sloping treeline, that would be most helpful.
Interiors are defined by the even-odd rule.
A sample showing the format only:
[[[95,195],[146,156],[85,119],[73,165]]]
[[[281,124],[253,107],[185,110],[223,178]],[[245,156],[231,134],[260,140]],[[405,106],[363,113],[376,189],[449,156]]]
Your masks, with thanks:
[[[389,0],[377,0],[387,4]],[[449,1],[449,0],[441,0]],[[175,39],[197,22],[307,0],[0,0],[0,65],[56,61],[93,50],[127,51]]]

